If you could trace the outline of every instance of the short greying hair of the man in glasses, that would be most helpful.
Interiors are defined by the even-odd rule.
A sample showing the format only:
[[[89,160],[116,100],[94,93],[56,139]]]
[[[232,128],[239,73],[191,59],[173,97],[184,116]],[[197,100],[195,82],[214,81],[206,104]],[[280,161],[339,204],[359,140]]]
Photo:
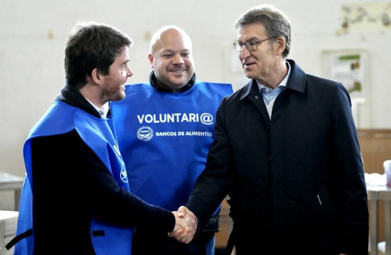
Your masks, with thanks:
[[[248,24],[261,23],[265,26],[266,35],[270,38],[285,38],[283,55],[288,56],[292,46],[291,22],[287,15],[272,5],[260,5],[249,9],[235,22],[236,29]],[[270,42],[272,43],[272,42]]]

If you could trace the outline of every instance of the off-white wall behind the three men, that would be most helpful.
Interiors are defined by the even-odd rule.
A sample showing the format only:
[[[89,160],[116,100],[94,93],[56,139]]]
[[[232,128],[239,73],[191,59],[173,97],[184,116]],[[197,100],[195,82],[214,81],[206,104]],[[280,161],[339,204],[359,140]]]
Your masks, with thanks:
[[[2,0],[0,171],[23,176],[24,140],[64,85],[65,42],[78,20],[116,26],[133,39],[130,67],[134,75],[128,83],[147,80],[151,71],[147,59],[150,36],[161,26],[173,24],[182,27],[193,40],[198,79],[231,82],[236,90],[247,79],[238,68],[239,61],[232,47],[236,39],[233,24],[240,14],[262,3],[255,0]],[[324,51],[362,49],[368,53],[366,98],[365,103],[357,106],[356,125],[390,128],[391,29],[340,33],[341,6],[367,1],[270,0],[269,3],[290,18],[293,48],[289,58],[295,59],[306,72],[325,76]]]

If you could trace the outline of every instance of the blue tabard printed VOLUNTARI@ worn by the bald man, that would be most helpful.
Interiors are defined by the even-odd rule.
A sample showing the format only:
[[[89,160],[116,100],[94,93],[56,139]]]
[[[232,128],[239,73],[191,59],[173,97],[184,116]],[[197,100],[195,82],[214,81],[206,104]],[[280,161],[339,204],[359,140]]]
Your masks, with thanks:
[[[205,168],[215,114],[231,84],[195,82],[183,93],[160,92],[149,82],[127,85],[111,103],[131,192],[176,211],[186,204]]]

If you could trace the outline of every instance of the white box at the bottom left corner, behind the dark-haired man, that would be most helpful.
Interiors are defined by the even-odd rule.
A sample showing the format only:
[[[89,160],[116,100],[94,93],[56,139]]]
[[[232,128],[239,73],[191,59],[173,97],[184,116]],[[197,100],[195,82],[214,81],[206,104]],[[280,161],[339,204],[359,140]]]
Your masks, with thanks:
[[[6,250],[4,246],[16,236],[18,214],[14,211],[0,211],[0,255],[14,254],[14,247]]]

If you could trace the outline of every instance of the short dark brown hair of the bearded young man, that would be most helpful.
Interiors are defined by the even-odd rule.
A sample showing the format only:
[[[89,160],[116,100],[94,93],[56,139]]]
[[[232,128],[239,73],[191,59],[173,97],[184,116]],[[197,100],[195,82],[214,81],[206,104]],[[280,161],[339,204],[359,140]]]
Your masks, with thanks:
[[[65,75],[77,89],[87,84],[95,68],[108,74],[123,47],[132,45],[122,31],[105,24],[79,22],[71,30],[65,48]]]

